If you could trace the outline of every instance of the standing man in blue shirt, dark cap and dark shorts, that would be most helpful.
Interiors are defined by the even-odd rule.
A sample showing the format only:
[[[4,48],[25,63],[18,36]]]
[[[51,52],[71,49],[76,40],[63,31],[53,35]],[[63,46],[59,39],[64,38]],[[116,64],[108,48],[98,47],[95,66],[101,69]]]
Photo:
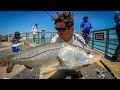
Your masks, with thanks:
[[[92,28],[92,25],[91,23],[88,21],[88,17],[85,16],[83,18],[83,22],[80,24],[80,31],[81,31],[81,34],[85,40],[85,43],[88,45],[88,42],[89,42],[89,38],[90,38],[90,29]]]

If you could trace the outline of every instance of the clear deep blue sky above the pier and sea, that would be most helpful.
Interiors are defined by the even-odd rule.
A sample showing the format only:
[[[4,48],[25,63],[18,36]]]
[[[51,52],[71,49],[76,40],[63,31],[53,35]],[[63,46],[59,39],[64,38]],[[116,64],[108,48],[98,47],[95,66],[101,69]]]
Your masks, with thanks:
[[[40,31],[56,31],[51,16],[63,11],[0,11],[0,34],[13,34],[15,31],[31,32],[32,26],[38,23]],[[70,11],[74,15],[74,31],[80,32],[80,23],[84,16],[92,23],[92,30],[100,30],[115,26],[115,11]]]

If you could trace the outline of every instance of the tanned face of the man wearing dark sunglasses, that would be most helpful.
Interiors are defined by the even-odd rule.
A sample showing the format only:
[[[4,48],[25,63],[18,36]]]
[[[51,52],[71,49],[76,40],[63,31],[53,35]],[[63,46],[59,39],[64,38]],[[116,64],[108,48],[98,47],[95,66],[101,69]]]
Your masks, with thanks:
[[[59,37],[63,40],[69,38],[73,33],[71,28],[66,28],[66,24],[64,22],[57,22],[56,30],[58,31]]]

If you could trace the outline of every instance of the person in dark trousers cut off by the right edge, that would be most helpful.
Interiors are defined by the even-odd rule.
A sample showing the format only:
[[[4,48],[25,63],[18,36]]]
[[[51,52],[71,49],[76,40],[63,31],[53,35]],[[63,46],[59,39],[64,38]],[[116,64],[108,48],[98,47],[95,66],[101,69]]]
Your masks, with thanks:
[[[115,54],[112,56],[112,60],[117,60],[117,58],[120,57],[120,11],[116,11],[114,21],[116,23],[116,34],[118,37],[119,44],[115,50]]]

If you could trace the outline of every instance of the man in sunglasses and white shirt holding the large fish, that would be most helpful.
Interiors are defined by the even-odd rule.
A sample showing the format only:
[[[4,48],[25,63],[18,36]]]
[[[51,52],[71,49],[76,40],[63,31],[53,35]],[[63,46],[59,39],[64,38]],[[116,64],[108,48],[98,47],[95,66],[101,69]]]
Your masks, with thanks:
[[[82,36],[73,33],[74,18],[72,14],[63,13],[58,15],[57,18],[53,18],[53,20],[58,34],[52,38],[51,43],[70,43],[77,45],[81,48],[87,48],[87,50],[89,50]],[[91,64],[91,62],[95,62],[95,60],[88,60],[88,62]],[[76,72],[77,74],[80,74],[78,71]],[[82,77],[82,75],[77,76],[80,76],[80,78]],[[82,79],[83,78],[84,77],[82,77]]]

